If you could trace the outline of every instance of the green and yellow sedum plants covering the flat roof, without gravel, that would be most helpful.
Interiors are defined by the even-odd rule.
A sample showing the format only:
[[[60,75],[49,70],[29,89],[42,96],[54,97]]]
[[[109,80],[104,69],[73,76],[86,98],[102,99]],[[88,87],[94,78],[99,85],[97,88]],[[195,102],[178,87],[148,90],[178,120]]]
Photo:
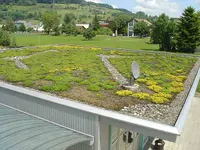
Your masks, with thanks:
[[[137,81],[140,92],[122,90],[99,54],[114,56],[109,61],[126,78],[129,78],[131,63],[137,61],[141,68],[141,77]],[[28,56],[20,61],[29,69],[16,67],[16,59],[5,59],[13,56]],[[97,107],[120,110],[136,103],[170,103],[184,90],[183,83],[195,62],[195,58],[171,54],[41,46],[0,53],[0,79]]]

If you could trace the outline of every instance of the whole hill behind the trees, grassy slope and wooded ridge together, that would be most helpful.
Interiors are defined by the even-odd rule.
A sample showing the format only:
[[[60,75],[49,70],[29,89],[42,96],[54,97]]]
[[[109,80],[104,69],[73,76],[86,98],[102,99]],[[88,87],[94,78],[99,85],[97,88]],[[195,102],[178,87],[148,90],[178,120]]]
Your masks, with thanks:
[[[7,19],[27,20],[38,24],[42,13],[56,11],[60,18],[66,13],[73,13],[77,23],[91,23],[94,15],[100,20],[111,20],[118,13],[134,16],[138,19],[146,19],[153,22],[157,16],[149,16],[144,12],[132,13],[123,8],[113,8],[109,4],[86,2],[84,0],[0,0],[0,24]]]

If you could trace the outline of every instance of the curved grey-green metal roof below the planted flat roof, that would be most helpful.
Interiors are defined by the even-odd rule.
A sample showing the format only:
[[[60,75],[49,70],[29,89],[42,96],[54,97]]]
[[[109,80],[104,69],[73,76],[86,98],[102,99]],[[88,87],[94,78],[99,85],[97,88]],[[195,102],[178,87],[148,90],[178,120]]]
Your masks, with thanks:
[[[0,105],[1,150],[58,150],[91,137]]]

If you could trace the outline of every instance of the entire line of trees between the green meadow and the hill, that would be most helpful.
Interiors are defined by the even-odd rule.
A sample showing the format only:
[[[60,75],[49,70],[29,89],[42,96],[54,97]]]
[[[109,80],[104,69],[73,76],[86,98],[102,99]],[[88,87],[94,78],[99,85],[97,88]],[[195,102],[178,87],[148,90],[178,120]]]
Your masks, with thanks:
[[[82,34],[86,39],[90,40],[96,34],[127,33],[127,23],[133,17],[125,13],[119,13],[109,21],[109,28],[100,28],[99,18],[95,15],[90,28],[85,30],[78,30],[76,28],[75,19],[74,14],[66,14],[62,21],[63,23],[60,24],[59,15],[51,11],[43,13],[41,20],[47,34],[75,36]],[[6,22],[3,30],[9,32],[16,31],[11,20]],[[21,32],[30,31],[25,29],[23,25],[18,30]],[[192,7],[188,7],[179,19],[169,18],[167,15],[161,14],[151,26],[145,21],[138,21],[134,26],[134,33],[140,38],[150,36],[150,42],[152,44],[159,44],[161,51],[194,53],[196,48],[200,46],[200,12],[195,11]]]

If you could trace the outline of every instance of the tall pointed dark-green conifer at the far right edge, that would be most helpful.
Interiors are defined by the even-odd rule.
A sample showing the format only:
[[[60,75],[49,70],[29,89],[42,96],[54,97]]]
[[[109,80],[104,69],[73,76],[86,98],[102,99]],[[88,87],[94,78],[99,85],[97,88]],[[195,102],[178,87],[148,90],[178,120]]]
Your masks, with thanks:
[[[200,43],[199,17],[195,9],[184,10],[178,24],[178,49],[180,52],[194,53]]]

